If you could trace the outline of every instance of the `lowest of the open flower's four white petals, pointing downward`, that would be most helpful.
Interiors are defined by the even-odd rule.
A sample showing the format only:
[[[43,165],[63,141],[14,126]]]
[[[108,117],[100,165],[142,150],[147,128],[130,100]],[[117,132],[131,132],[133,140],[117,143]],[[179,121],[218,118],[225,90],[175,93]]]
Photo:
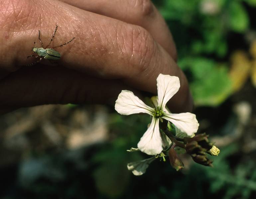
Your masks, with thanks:
[[[159,131],[159,118],[153,117],[148,130],[138,143],[138,148],[148,155],[157,155],[163,151],[162,138]]]

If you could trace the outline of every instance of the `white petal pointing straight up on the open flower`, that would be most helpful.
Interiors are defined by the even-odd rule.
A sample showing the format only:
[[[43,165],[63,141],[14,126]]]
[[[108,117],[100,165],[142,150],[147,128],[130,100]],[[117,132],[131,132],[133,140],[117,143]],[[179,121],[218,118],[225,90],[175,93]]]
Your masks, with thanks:
[[[160,109],[165,107],[166,103],[180,89],[180,80],[176,76],[159,74],[157,78],[158,106]]]

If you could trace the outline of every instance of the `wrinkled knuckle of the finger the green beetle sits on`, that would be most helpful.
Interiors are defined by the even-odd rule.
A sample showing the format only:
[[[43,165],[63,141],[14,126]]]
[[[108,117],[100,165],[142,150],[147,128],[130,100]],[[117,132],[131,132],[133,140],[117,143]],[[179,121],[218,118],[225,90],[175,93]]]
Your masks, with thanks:
[[[151,34],[144,28],[133,26],[126,37],[125,46],[127,57],[136,73],[143,73],[149,69],[154,57],[156,45]]]

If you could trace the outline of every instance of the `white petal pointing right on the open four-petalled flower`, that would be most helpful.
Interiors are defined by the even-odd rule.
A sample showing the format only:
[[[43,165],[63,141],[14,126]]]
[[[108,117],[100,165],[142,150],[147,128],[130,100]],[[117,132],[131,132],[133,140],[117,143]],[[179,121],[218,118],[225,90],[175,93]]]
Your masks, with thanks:
[[[189,136],[196,133],[198,130],[199,124],[196,120],[195,114],[188,112],[179,114],[165,112],[162,118],[172,122],[178,129],[187,133]]]

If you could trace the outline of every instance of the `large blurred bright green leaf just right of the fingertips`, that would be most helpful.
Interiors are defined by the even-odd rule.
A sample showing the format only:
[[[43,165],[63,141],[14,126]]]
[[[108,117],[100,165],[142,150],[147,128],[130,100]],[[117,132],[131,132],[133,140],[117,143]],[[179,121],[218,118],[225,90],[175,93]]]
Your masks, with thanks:
[[[227,67],[203,57],[188,57],[179,62],[190,80],[196,105],[216,106],[232,93]]]

